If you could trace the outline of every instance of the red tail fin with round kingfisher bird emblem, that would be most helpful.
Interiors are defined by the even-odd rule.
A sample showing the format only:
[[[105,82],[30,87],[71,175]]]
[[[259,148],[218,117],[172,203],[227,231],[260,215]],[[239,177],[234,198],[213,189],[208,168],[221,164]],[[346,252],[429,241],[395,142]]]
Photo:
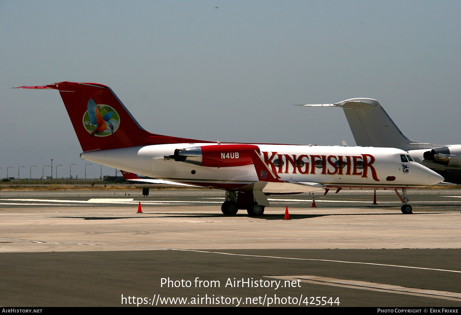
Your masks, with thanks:
[[[102,84],[59,82],[18,88],[58,90],[83,151],[208,142],[147,132],[110,87]]]

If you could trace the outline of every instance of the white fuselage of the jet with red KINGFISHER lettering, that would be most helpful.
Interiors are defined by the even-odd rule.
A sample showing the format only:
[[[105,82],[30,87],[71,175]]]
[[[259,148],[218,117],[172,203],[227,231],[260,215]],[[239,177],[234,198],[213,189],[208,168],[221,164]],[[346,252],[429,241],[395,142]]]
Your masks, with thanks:
[[[229,167],[202,166],[175,161],[176,149],[208,147]],[[126,171],[226,190],[247,191],[258,181],[253,163],[245,165],[245,152],[219,152],[225,144],[189,143],[137,146],[81,153],[81,157]],[[243,145],[245,146],[245,145]],[[254,145],[260,157],[281,181],[314,182],[325,187],[414,188],[435,184],[441,177],[416,162],[401,162],[399,149],[341,146]],[[203,153],[203,157],[206,155]],[[242,165],[238,165],[242,160]],[[341,162],[342,161],[342,162]],[[402,166],[402,164],[404,164]],[[232,164],[231,164],[232,165]]]

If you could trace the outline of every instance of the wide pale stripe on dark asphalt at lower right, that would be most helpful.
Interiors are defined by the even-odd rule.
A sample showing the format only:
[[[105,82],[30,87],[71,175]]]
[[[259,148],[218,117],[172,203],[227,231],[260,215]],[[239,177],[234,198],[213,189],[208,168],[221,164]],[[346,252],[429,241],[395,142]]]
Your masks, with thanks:
[[[440,299],[451,300],[451,301],[461,300],[461,293],[458,293],[458,292],[409,288],[405,286],[393,286],[393,285],[388,285],[384,283],[335,279],[335,278],[320,277],[320,276],[315,276],[315,275],[264,276],[264,277],[281,279],[281,280],[290,280],[290,281],[293,281],[293,280],[296,281],[299,279],[301,282],[310,283],[310,284],[320,284],[320,285],[325,285],[325,286],[340,286],[344,288],[397,293],[397,294],[408,294],[408,295],[415,295],[419,297],[432,297],[432,298],[440,298]]]

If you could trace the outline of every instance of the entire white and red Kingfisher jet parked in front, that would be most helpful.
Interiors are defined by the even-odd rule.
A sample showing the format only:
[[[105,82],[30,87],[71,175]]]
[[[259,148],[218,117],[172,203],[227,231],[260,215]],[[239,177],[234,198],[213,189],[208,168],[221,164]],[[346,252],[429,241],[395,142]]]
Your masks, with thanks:
[[[83,159],[127,172],[226,191],[221,210],[246,209],[260,216],[268,195],[335,188],[394,189],[402,212],[411,213],[406,189],[443,181],[392,148],[215,143],[151,134],[131,116],[109,87],[59,82],[46,86],[61,94],[82,146]],[[402,163],[402,157],[410,162]],[[402,189],[403,198],[397,192]]]

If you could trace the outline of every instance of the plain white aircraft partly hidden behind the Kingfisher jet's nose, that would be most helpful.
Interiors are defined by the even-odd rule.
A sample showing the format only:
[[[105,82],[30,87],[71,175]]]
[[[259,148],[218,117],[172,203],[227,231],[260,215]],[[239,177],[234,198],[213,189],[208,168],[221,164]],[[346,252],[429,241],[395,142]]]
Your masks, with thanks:
[[[442,175],[446,182],[461,184],[461,145],[409,140],[376,99],[346,99],[335,104],[299,105],[341,107],[357,146],[402,149],[418,163]],[[402,162],[407,161],[402,158]]]

